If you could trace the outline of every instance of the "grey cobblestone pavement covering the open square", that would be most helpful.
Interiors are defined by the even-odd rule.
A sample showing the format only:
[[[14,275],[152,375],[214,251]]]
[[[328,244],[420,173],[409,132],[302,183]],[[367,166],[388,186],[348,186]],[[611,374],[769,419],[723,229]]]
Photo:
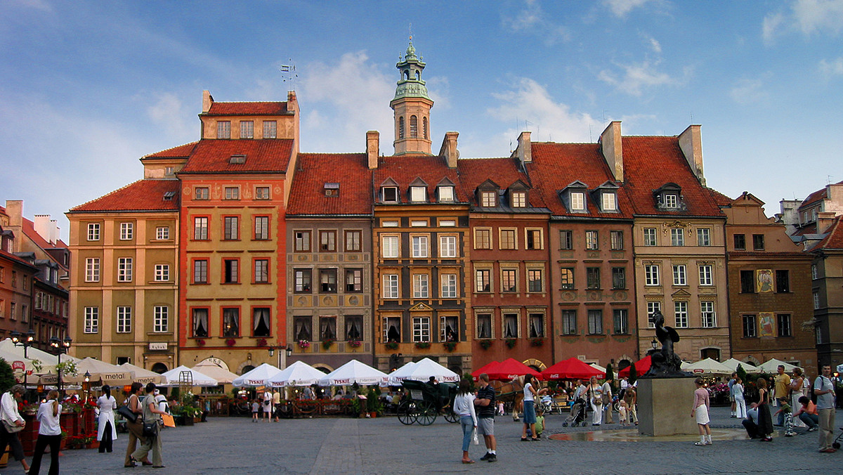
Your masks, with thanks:
[[[838,414],[837,426],[843,425]],[[712,408],[715,429],[740,429],[728,408]],[[615,416],[616,417],[616,416]],[[564,428],[564,415],[546,419],[547,434],[589,432],[592,427]],[[792,438],[777,436],[773,442],[715,440],[697,447],[689,441],[642,440],[637,442],[589,442],[540,440],[521,442],[520,423],[498,417],[498,462],[474,465],[459,462],[462,435],[459,424],[443,418],[427,427],[405,426],[395,417],[301,418],[280,423],[253,424],[249,418],[209,418],[205,424],[166,429],[163,470],[124,468],[127,436],[119,435],[115,451],[65,451],[62,473],[840,473],[843,451],[816,452],[818,435],[812,432]],[[604,424],[599,429],[621,429]],[[629,429],[634,432],[634,429]],[[840,429],[835,429],[835,436]],[[484,453],[483,442],[471,445],[475,460]],[[45,461],[49,464],[49,458]],[[47,467],[42,467],[46,473]],[[11,462],[3,474],[23,473]]]

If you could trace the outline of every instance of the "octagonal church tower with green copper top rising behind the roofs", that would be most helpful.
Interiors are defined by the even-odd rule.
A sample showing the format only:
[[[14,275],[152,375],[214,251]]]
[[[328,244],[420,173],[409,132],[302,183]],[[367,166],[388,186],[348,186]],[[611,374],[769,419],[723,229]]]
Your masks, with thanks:
[[[412,37],[404,58],[395,65],[401,73],[395,99],[389,106],[395,111],[395,154],[431,154],[430,108],[433,101],[421,80],[425,63],[416,57]]]

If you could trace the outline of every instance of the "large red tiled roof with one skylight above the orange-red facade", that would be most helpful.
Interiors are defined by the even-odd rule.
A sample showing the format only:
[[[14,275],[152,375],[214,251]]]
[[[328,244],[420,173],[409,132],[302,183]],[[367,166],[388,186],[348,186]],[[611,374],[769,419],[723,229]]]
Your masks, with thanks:
[[[245,163],[229,163],[232,155],[246,155]],[[293,140],[201,140],[180,173],[284,173],[293,155]]]

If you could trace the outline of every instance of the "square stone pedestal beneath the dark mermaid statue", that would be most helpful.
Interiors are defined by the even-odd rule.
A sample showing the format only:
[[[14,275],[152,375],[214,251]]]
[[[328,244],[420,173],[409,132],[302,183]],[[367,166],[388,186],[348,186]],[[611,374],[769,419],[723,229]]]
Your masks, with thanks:
[[[697,435],[694,403],[695,378],[642,378],[638,380],[638,432],[642,435]]]

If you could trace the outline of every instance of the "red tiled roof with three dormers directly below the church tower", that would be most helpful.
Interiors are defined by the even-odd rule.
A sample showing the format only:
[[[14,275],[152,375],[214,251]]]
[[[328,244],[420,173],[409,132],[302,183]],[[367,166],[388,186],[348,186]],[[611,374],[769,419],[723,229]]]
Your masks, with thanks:
[[[410,184],[416,178],[427,183],[427,196],[436,196],[436,186],[443,178],[454,182],[454,199],[457,202],[468,202],[468,197],[459,183],[456,169],[448,168],[443,157],[432,155],[398,155],[381,157],[378,169],[374,170],[373,185],[378,189],[381,184],[391,178],[398,183],[400,202],[408,202],[407,195]]]

